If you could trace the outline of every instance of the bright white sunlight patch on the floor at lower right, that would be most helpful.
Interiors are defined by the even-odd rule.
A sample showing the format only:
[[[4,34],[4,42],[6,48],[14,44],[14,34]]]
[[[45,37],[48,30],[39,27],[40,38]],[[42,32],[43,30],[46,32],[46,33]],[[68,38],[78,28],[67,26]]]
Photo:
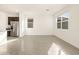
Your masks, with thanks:
[[[55,43],[52,43],[48,55],[66,55],[65,52]]]

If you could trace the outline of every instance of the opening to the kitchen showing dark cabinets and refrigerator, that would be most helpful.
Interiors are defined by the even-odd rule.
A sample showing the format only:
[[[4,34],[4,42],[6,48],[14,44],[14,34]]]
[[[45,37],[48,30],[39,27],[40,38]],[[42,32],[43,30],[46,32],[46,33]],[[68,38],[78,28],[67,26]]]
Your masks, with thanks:
[[[8,17],[7,37],[14,39],[19,36],[19,17]]]

